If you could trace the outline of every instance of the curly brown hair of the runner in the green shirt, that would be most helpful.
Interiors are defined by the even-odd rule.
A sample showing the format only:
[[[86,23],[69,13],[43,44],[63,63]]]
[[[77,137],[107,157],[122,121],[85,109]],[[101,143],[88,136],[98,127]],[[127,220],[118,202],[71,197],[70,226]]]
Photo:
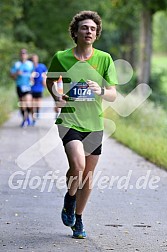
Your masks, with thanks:
[[[102,21],[98,13],[95,11],[80,11],[73,17],[69,26],[70,35],[75,43],[77,43],[75,33],[78,31],[78,23],[85,19],[92,19],[96,23],[97,25],[96,38],[98,39],[101,35]]]

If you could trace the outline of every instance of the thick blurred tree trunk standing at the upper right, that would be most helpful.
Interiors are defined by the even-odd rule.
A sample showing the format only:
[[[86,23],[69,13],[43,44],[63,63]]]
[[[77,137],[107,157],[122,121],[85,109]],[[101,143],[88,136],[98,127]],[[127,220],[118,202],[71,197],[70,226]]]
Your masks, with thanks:
[[[150,68],[152,55],[152,13],[144,10],[141,13],[140,26],[140,51],[139,51],[139,71],[138,84],[146,83],[149,85]],[[145,93],[145,90],[142,90]]]

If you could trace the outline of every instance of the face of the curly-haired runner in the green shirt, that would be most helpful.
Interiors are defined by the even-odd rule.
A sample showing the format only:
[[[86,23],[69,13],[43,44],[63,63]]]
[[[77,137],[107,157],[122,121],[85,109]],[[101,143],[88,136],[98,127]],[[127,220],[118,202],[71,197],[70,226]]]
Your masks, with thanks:
[[[96,40],[97,25],[92,19],[85,19],[78,23],[77,44],[91,45]]]

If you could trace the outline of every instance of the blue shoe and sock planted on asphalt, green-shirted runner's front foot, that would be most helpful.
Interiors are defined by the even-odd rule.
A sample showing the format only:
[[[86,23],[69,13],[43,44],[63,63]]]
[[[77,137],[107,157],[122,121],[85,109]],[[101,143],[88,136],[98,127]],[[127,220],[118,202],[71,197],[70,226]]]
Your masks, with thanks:
[[[71,229],[73,231],[73,238],[76,238],[76,239],[86,238],[86,232],[84,230],[82,219],[76,219],[75,225],[71,227]]]

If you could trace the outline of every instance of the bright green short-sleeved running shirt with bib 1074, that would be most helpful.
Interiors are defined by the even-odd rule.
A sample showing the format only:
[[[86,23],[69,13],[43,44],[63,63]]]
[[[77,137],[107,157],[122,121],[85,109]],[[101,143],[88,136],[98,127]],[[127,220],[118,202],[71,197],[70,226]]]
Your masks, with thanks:
[[[101,87],[115,85],[117,77],[111,56],[93,48],[90,58],[80,61],[74,56],[74,48],[58,51],[51,61],[48,78],[56,80],[59,75],[63,76],[63,92],[69,101],[56,123],[80,132],[103,130],[102,98],[91,92],[86,81],[95,81]]]

